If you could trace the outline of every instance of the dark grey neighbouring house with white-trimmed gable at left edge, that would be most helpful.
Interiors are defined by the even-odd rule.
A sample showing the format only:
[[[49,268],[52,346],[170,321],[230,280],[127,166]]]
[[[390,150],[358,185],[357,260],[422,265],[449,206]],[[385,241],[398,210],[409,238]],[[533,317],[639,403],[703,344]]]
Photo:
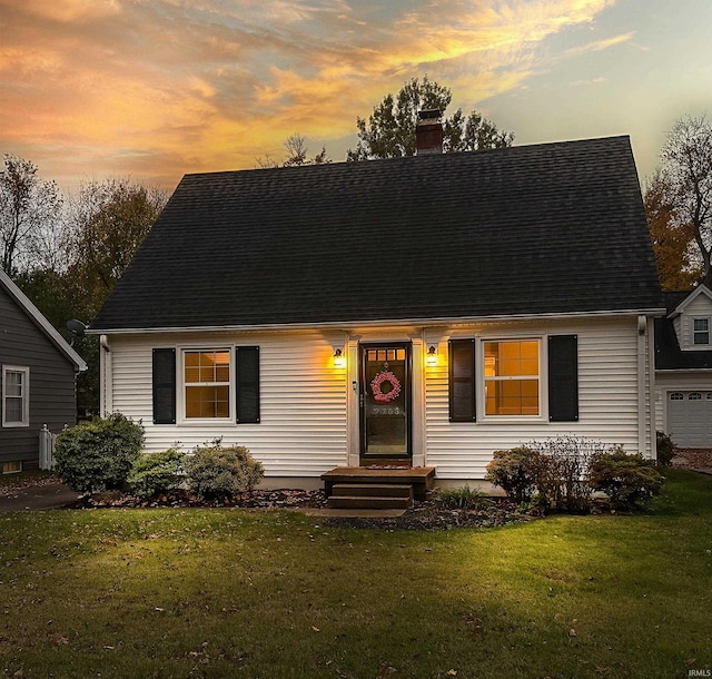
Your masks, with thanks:
[[[39,464],[43,425],[77,422],[76,375],[87,364],[0,270],[0,472]]]

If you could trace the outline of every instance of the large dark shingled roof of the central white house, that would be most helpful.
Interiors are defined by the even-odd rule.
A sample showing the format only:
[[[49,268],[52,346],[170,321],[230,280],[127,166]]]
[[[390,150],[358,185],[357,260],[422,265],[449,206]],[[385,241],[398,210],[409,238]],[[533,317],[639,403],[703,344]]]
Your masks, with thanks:
[[[662,306],[614,137],[187,175],[92,328]]]

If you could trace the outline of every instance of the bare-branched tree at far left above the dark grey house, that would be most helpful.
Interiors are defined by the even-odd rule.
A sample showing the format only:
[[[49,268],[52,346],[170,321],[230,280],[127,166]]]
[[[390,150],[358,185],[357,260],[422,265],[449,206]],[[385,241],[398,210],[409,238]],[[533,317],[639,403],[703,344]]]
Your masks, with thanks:
[[[57,185],[41,180],[37,171],[30,160],[4,155],[4,169],[0,171],[0,266],[11,276],[19,269],[31,269],[38,255],[51,254],[62,224]],[[56,259],[52,265],[57,265]]]

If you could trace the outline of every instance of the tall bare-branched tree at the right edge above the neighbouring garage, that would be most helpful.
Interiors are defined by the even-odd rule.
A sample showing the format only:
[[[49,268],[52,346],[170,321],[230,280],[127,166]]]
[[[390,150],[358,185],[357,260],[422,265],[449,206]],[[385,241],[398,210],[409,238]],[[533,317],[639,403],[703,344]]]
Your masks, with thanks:
[[[712,287],[712,124],[704,116],[675,120],[661,157],[675,219],[692,229],[702,281]]]

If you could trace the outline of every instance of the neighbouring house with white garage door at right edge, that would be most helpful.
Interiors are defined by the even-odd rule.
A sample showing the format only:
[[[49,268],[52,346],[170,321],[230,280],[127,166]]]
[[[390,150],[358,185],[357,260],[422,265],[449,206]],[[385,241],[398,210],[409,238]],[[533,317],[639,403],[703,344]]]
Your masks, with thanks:
[[[681,447],[712,447],[712,292],[665,293],[655,321],[655,417]]]

